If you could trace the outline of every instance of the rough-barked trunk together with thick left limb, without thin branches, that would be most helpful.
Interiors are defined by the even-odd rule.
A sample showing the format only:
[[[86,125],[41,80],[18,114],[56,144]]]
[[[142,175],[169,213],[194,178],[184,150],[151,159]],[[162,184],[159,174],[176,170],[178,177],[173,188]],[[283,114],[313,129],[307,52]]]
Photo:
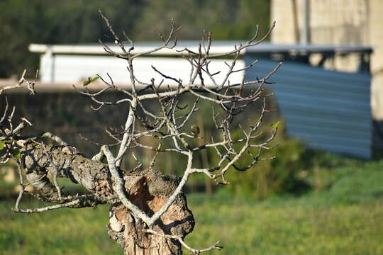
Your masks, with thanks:
[[[99,196],[113,194],[111,176],[106,164],[94,162],[79,154],[74,147],[47,146],[19,141],[21,162],[28,181],[48,198],[57,198],[57,190],[47,177],[48,172],[67,177],[82,184],[90,193]],[[49,156],[48,156],[49,155]],[[132,203],[151,217],[166,202],[179,183],[176,176],[164,176],[160,171],[146,169],[124,174],[126,195]],[[119,203],[110,208],[108,232],[125,254],[182,254],[181,244],[143,230],[145,224]],[[187,208],[183,193],[158,220],[152,229],[160,234],[185,237],[194,227],[194,217]]]

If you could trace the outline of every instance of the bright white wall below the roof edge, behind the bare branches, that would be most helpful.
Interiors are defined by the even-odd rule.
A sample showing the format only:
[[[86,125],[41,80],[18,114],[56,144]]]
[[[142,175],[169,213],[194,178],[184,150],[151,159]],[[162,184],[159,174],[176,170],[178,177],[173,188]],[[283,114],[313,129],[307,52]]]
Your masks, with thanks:
[[[231,60],[211,60],[209,69],[211,73],[221,71],[215,79],[222,81],[228,67],[224,62],[231,64]],[[155,79],[155,84],[159,84],[163,77],[155,72],[154,66],[163,74],[182,79],[184,84],[189,81],[190,64],[187,60],[180,57],[138,57],[133,62],[135,76],[138,80],[150,83],[150,79]],[[235,65],[235,69],[245,67],[242,60]],[[115,84],[131,84],[126,61],[110,56],[89,56],[89,55],[50,55],[49,52],[41,57],[40,79],[43,82],[74,83],[84,81],[87,77],[101,75],[109,81],[106,73],[109,73]],[[231,74],[229,80],[231,84],[239,83],[243,79],[244,72]],[[206,85],[213,85],[207,75],[204,75]],[[176,84],[175,81],[167,79],[164,84]],[[196,81],[199,84],[199,79]]]

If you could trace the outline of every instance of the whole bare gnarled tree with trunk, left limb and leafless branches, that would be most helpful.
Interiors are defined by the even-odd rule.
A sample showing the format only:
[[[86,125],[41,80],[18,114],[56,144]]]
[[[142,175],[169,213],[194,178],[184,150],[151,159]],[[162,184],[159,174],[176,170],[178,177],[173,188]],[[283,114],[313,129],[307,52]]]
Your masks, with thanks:
[[[194,249],[183,240],[194,227],[194,217],[187,207],[184,186],[191,174],[205,174],[216,183],[226,185],[225,174],[228,171],[245,171],[257,164],[262,151],[271,149],[277,128],[272,127],[269,136],[259,142],[260,125],[267,110],[265,98],[270,96],[263,88],[271,75],[277,71],[281,63],[262,79],[241,81],[231,84],[231,74],[252,67],[236,68],[240,54],[245,48],[253,47],[270,35],[272,28],[259,40],[258,31],[247,43],[238,45],[225,54],[213,55],[211,50],[211,34],[206,33],[197,51],[184,48],[182,57],[190,64],[189,81],[163,74],[157,67],[152,67],[163,78],[160,82],[151,79],[150,83],[138,80],[135,76],[134,62],[137,57],[150,55],[164,49],[173,49],[177,45],[175,38],[177,28],[172,22],[169,35],[160,35],[163,45],[148,52],[135,54],[134,44],[123,33],[121,39],[113,30],[108,19],[101,13],[113,40],[119,46],[118,51],[104,44],[109,55],[126,60],[131,90],[122,89],[113,83],[113,79],[99,76],[105,88],[91,91],[88,85],[94,79],[84,83],[84,89],[77,89],[80,94],[92,101],[92,107],[98,111],[102,107],[113,107],[124,104],[127,107],[127,118],[121,130],[115,128],[106,130],[116,142],[112,145],[100,145],[99,153],[87,158],[75,147],[68,145],[60,137],[50,132],[38,135],[23,136],[24,128],[32,126],[26,118],[18,125],[13,125],[13,113],[8,103],[0,119],[0,149],[2,163],[13,158],[18,165],[21,191],[13,208],[15,212],[33,213],[54,210],[58,208],[84,208],[98,204],[109,203],[109,237],[121,245],[125,254],[181,254],[182,246],[193,254],[200,254],[211,249],[221,249],[212,244],[206,249]],[[101,42],[102,43],[102,42]],[[211,60],[218,57],[231,57],[230,64],[224,73],[224,79],[216,79],[216,74],[209,68]],[[206,79],[213,86],[206,86]],[[175,81],[176,86],[170,86],[167,81]],[[33,89],[33,82],[26,82],[24,74],[18,84],[4,88],[15,89],[28,86]],[[120,91],[124,96],[118,101],[104,101],[101,94],[106,91]],[[189,94],[194,103],[185,106],[182,95]],[[147,101],[155,104],[157,111],[148,108]],[[201,138],[199,127],[190,125],[193,115],[199,113],[199,101],[211,103],[211,121],[215,126],[215,135],[204,137],[204,145],[193,146],[193,141]],[[255,120],[249,120],[249,125],[233,126],[233,119],[252,105],[260,102],[259,114]],[[125,113],[121,113],[124,115]],[[233,138],[233,130],[242,132],[241,137]],[[154,142],[148,142],[148,137]],[[48,142],[47,140],[51,140]],[[209,142],[206,142],[209,141]],[[52,144],[53,143],[53,144]],[[136,149],[146,149],[153,152],[150,164],[143,167],[137,159],[134,169],[122,169],[121,163],[127,154],[135,157]],[[257,153],[254,154],[254,148]],[[203,150],[213,150],[219,160],[215,166],[197,168],[194,158]],[[161,169],[156,168],[159,154],[181,154],[185,167],[183,175],[165,176]],[[238,159],[248,155],[248,166],[236,165]],[[52,178],[48,178],[48,174]],[[57,178],[67,178],[79,183],[89,191],[87,194],[71,196],[62,190]],[[33,186],[37,193],[28,193],[26,186]],[[21,198],[24,194],[38,200],[55,203],[43,208],[21,208]]]

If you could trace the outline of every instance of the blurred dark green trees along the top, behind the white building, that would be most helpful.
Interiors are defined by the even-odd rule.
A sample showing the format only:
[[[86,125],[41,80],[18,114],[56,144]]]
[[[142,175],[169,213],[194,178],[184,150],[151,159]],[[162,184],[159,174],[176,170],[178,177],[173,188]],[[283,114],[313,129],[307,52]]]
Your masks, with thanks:
[[[171,18],[184,26],[181,40],[198,40],[204,29],[215,40],[245,40],[270,24],[267,0],[3,0],[0,1],[0,78],[17,77],[38,68],[31,42],[44,44],[96,43],[106,28],[101,8],[116,31],[126,30],[135,41],[158,40],[157,30]],[[30,72],[33,73],[33,72]]]

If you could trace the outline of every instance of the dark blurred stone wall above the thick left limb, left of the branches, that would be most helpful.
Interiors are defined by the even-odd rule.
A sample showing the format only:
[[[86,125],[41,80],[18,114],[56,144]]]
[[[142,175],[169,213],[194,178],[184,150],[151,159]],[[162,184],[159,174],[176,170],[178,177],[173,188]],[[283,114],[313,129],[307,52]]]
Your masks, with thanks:
[[[89,98],[70,91],[40,93],[35,96],[14,92],[6,96],[10,106],[16,107],[14,123],[25,117],[34,125],[25,130],[23,135],[49,131],[75,145],[88,156],[98,152],[99,146],[86,142],[79,134],[96,142],[113,142],[104,128],[123,126],[128,114],[123,105],[106,106],[93,111]],[[104,99],[113,101],[120,97],[121,94],[110,92]],[[5,101],[1,100],[1,112],[4,106]]]

